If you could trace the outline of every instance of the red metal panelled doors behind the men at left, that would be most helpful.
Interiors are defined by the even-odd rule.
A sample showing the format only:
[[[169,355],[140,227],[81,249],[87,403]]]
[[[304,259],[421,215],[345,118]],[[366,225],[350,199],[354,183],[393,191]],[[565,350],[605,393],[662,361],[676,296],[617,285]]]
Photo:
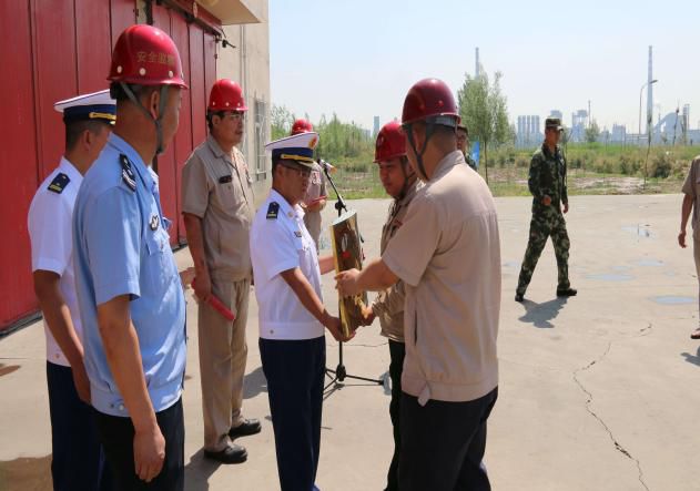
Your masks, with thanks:
[[[180,129],[159,158],[161,197],[174,222],[171,241],[184,237],[180,176],[193,146],[206,135],[206,93],[215,73],[215,40],[175,11],[153,6],[154,23],[169,32],[183,58],[191,90],[183,94]],[[106,89],[110,54],[119,34],[136,22],[135,0],[28,0],[0,2],[0,331],[38,309],[31,278],[27,212],[41,181],[63,152],[58,100]]]

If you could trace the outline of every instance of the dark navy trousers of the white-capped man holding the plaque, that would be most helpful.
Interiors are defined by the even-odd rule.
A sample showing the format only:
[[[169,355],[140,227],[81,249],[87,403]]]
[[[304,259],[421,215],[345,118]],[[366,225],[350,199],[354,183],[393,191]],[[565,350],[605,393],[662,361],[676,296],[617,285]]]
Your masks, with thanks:
[[[282,491],[314,489],[321,451],[325,337],[260,339]]]

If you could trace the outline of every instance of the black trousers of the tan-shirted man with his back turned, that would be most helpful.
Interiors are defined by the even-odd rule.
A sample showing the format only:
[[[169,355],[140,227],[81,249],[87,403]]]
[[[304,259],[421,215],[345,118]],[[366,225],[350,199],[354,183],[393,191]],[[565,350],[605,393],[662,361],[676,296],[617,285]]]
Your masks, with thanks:
[[[429,400],[425,406],[402,397],[402,449],[398,480],[402,491],[490,490],[481,467],[486,421],[498,388],[468,402]]]

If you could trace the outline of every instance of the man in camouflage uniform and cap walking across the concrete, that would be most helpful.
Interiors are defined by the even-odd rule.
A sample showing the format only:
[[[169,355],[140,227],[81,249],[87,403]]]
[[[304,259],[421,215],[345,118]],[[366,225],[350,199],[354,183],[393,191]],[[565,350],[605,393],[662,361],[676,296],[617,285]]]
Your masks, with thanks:
[[[537,260],[550,236],[559,270],[557,296],[572,297],[577,293],[569,283],[569,236],[562,214],[569,211],[569,198],[566,185],[566,161],[559,147],[561,129],[561,120],[558,117],[546,120],[545,143],[535,152],[530,163],[528,186],[532,193],[532,221],[530,222],[530,238],[520,268],[516,301],[523,301]]]

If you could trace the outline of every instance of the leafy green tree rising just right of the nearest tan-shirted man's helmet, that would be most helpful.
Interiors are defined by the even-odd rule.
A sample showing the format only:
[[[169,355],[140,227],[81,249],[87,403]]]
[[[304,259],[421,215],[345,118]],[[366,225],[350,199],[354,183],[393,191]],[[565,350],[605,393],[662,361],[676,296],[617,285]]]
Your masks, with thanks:
[[[481,69],[478,76],[466,74],[464,84],[457,92],[459,114],[469,130],[469,137],[481,143],[487,183],[489,145],[513,141],[507,100],[500,92],[501,76],[500,72],[496,72],[494,82],[490,83],[488,74]]]

